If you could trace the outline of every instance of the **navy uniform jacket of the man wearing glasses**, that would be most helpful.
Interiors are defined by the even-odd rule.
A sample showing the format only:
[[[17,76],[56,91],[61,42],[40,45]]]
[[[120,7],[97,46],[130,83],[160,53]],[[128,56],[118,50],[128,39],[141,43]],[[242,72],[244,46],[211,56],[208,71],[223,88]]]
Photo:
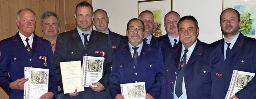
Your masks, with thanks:
[[[121,94],[120,84],[145,82],[146,93],[158,99],[162,87],[163,59],[160,48],[143,44],[138,63],[135,64],[128,43],[113,52],[113,67],[109,76],[113,99]],[[136,75],[137,74],[137,75]]]

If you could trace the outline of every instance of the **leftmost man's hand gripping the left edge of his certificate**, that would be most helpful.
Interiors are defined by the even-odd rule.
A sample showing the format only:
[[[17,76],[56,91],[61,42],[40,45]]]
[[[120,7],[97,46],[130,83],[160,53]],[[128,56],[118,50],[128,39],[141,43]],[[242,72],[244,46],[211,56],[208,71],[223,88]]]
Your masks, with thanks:
[[[18,90],[24,90],[24,83],[28,81],[28,78],[25,79],[25,77],[21,79],[17,79],[16,81],[13,81],[10,83],[9,87],[11,89],[18,89]]]

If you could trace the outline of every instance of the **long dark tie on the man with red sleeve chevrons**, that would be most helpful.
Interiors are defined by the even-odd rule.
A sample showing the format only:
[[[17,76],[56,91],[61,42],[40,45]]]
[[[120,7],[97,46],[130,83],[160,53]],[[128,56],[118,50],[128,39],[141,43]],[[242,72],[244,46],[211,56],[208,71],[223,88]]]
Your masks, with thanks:
[[[187,52],[188,49],[184,50],[184,54],[180,61],[180,71],[178,72],[177,79],[176,79],[176,87],[175,87],[175,94],[179,98],[182,95],[182,81],[183,81],[183,71],[186,66],[186,59],[187,59]]]

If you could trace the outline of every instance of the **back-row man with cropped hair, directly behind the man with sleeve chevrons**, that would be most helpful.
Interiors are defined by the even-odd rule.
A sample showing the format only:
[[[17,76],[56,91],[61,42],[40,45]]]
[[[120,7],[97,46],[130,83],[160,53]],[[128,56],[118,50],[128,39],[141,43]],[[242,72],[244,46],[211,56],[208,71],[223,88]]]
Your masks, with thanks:
[[[180,14],[175,11],[170,11],[164,16],[164,28],[167,32],[166,35],[160,36],[162,40],[164,40],[169,47],[175,47],[180,45],[179,35],[177,29],[177,23],[180,20]]]

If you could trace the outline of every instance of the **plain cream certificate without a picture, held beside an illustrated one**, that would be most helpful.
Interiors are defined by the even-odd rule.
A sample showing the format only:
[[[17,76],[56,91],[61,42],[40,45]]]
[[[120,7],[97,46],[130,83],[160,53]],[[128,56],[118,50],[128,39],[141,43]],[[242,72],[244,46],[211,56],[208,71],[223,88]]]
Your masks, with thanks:
[[[62,76],[63,91],[66,93],[74,93],[84,91],[81,86],[81,61],[60,62],[60,71]]]

